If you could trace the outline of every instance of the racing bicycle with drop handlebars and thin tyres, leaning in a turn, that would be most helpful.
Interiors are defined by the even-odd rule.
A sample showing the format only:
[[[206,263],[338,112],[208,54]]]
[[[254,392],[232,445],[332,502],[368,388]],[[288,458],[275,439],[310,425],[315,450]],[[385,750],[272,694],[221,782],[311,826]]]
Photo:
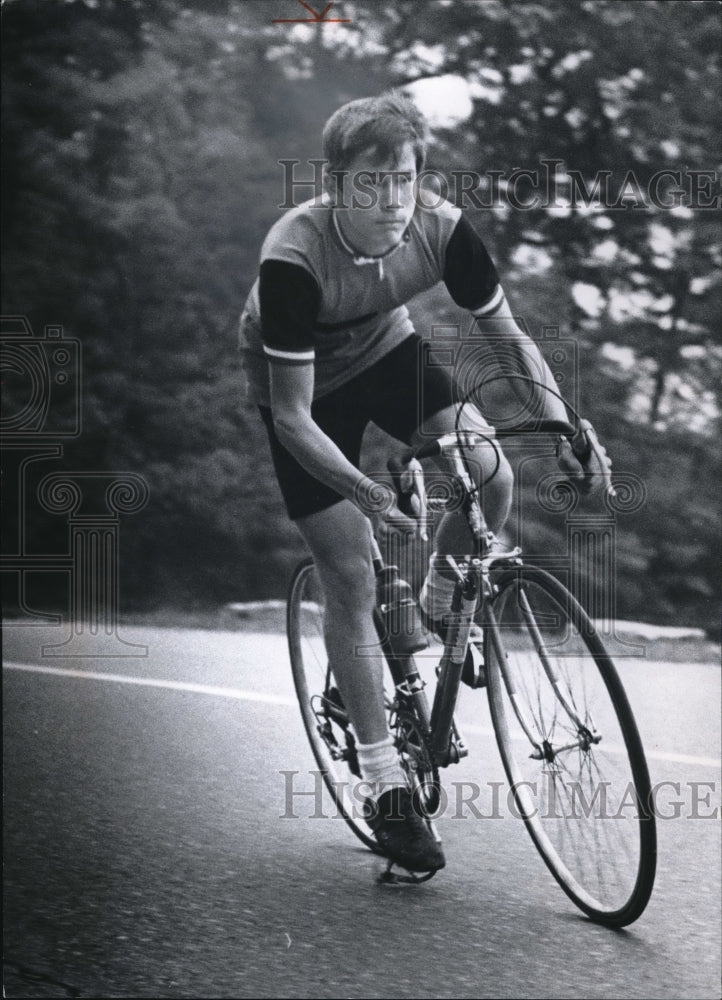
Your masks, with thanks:
[[[578,426],[589,446],[598,449],[591,425],[583,421]],[[576,429],[561,421],[535,426],[537,432],[567,437]],[[588,917],[623,927],[644,911],[656,869],[656,828],[642,742],[616,668],[578,601],[545,570],[524,564],[519,548],[498,552],[465,459],[465,448],[480,437],[484,435],[457,425],[454,432],[403,455],[401,471],[413,483],[422,525],[434,508],[424,493],[419,462],[442,453],[450,457],[474,552],[462,564],[451,560],[456,587],[431,705],[414,659],[419,649],[408,651],[401,643],[400,651],[388,615],[379,607],[374,611],[388,665],[389,727],[416,806],[435,831],[439,769],[468,754],[454,713],[467,652],[475,644],[483,656],[478,686],[487,689],[516,809],[537,850]],[[403,481],[399,471],[396,486]],[[605,490],[614,491],[609,473]],[[377,571],[383,568],[378,546],[374,563]],[[472,636],[475,625],[483,633],[481,643]],[[398,635],[398,622],[396,626]],[[293,575],[287,629],[301,714],[325,784],[356,836],[380,853],[359,808],[355,737],[326,660],[323,594],[310,558]],[[630,807],[633,815],[627,816]],[[432,874],[402,880],[423,881]],[[390,862],[382,878],[394,880]]]

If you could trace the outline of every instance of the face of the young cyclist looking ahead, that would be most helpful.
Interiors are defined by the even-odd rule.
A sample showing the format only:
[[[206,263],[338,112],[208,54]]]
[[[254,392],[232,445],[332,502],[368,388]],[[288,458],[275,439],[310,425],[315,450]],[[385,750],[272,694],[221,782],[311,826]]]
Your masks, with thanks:
[[[384,172],[389,175],[384,177]],[[373,162],[369,151],[353,160],[336,212],[341,231],[355,250],[377,256],[399,242],[414,214],[415,179],[411,143],[385,162]]]

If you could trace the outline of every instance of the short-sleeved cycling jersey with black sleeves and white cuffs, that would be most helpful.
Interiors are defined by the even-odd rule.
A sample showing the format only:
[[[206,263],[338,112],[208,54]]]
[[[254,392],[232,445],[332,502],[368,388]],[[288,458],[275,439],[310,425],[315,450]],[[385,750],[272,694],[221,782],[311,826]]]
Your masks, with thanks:
[[[252,399],[269,406],[269,361],[314,365],[314,397],[342,386],[413,333],[405,303],[444,281],[477,309],[498,294],[487,250],[448,202],[417,207],[401,242],[362,257],[325,202],[291,209],[261,248],[259,277],[241,317],[240,347]]]

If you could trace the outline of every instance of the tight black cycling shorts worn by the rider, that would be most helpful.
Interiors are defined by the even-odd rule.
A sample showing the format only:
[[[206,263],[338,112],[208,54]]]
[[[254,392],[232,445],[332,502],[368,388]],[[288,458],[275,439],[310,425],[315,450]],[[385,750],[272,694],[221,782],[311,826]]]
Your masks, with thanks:
[[[454,404],[449,372],[429,357],[429,345],[412,334],[366,371],[315,399],[311,416],[358,467],[361,442],[370,422],[405,444],[424,420]],[[289,517],[295,521],[332,507],[344,498],[315,479],[283,447],[271,410],[259,406]]]

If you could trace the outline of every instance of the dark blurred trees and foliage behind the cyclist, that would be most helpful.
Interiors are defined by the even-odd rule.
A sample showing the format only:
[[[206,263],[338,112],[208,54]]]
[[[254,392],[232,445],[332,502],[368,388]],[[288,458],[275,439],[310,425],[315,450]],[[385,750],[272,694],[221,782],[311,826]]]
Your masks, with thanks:
[[[350,23],[272,23],[305,16],[296,0],[3,4],[2,311],[82,344],[82,434],[38,477],[126,470],[148,483],[121,528],[121,609],[285,595],[303,545],[243,395],[238,317],[282,212],[279,160],[309,177],[332,111],[410,86],[434,126],[428,166],[445,175],[561,161],[551,206],[501,197],[468,215],[529,332],[574,343],[582,412],[644,484],[644,502],[616,516],[618,614],[714,630],[719,5],[385,0],[334,4],[327,16]],[[570,204],[566,170],[590,183],[606,172],[616,207]],[[681,194],[668,175],[659,206],[647,193],[662,170],[681,172]],[[690,204],[694,171],[708,207]],[[424,336],[468,326],[443,287],[412,312]],[[12,414],[27,389],[13,371],[5,382]],[[368,468],[386,446],[369,434]],[[63,518],[30,500],[23,521],[7,492],[27,551],[62,552]],[[563,551],[565,515],[532,506],[526,550]],[[65,574],[39,572],[24,599],[62,609],[67,589]]]

